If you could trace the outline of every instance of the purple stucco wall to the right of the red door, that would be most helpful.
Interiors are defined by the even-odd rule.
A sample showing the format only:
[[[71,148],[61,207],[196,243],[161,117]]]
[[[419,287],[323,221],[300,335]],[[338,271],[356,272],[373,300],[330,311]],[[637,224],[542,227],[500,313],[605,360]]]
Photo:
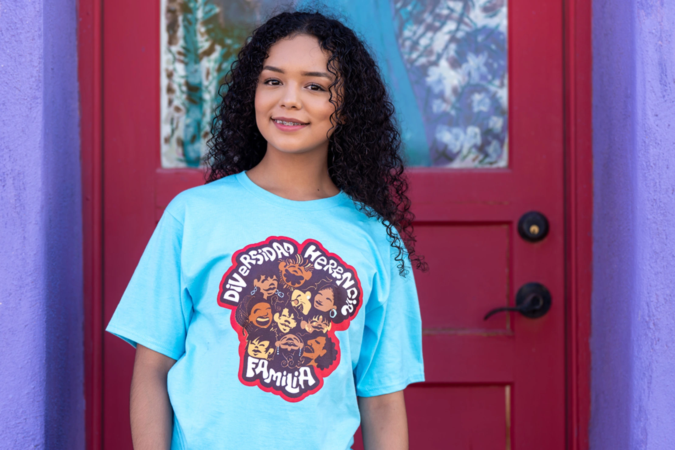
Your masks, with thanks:
[[[591,449],[675,437],[675,2],[593,1]]]

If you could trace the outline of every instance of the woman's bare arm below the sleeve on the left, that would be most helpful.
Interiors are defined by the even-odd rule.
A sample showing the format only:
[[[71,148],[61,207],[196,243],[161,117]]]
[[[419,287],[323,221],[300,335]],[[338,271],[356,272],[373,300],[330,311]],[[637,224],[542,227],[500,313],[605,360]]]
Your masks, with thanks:
[[[167,373],[175,360],[138,344],[131,379],[131,436],[134,450],[169,450],[173,410]]]

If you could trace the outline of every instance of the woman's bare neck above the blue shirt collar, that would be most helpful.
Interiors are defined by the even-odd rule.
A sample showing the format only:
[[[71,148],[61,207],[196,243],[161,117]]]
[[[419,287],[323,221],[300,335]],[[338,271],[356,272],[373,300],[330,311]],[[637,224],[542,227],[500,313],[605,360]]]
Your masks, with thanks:
[[[327,148],[288,153],[267,146],[263,160],[246,174],[264,190],[288,200],[318,200],[340,192],[328,175]]]

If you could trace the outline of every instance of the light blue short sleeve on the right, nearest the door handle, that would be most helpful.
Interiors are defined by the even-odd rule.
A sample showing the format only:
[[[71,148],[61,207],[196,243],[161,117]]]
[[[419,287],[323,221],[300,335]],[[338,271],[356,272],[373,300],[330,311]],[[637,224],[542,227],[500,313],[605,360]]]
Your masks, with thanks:
[[[374,397],[424,381],[422,320],[414,276],[402,277],[394,257],[379,277],[366,310],[360,356],[356,364],[356,395]]]

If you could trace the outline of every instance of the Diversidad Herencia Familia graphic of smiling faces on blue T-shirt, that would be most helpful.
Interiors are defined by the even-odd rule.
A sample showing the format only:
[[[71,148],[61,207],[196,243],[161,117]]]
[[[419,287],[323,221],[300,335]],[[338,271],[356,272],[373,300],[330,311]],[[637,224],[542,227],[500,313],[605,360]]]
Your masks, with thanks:
[[[239,335],[239,379],[288,401],[323,387],[340,364],[335,331],[362,304],[356,270],[321,243],[268,237],[232,256],[218,304]]]

